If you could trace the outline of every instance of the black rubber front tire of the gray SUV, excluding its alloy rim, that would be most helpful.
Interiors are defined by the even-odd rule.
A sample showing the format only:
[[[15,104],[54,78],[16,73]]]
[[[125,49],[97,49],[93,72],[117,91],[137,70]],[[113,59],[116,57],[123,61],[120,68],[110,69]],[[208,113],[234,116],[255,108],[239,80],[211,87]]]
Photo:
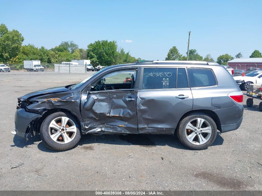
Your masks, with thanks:
[[[55,142],[51,136],[49,135],[49,125],[52,120],[58,118],[58,117],[68,117],[70,120],[74,122],[76,125],[76,133],[72,141],[68,143],[58,143]],[[74,146],[77,145],[81,138],[81,133],[80,133],[80,125],[78,123],[78,120],[76,119],[75,116],[68,112],[56,112],[53,114],[50,114],[49,116],[46,117],[46,119],[42,122],[41,127],[40,127],[40,136],[41,139],[47,148],[51,150],[68,150],[70,148],[73,148]]]

